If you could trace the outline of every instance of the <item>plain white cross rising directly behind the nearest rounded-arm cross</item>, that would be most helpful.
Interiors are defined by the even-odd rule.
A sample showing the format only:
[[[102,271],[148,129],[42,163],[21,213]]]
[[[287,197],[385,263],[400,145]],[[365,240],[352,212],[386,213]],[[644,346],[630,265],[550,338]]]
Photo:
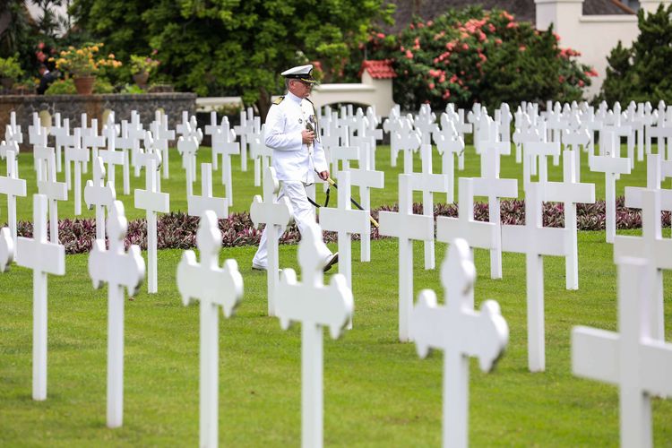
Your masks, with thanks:
[[[461,238],[470,247],[501,251],[499,226],[492,222],[474,220],[474,179],[460,177],[460,209],[458,218],[436,218],[436,239],[451,243]]]

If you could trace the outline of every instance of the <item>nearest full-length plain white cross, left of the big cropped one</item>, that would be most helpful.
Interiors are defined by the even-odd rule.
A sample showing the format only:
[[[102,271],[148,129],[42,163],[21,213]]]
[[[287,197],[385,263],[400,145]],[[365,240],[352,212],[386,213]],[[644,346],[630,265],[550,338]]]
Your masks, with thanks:
[[[543,372],[546,368],[542,255],[567,254],[564,228],[543,227],[539,188],[540,185],[531,182],[525,187],[525,225],[502,226],[502,250],[525,254],[530,372]]]

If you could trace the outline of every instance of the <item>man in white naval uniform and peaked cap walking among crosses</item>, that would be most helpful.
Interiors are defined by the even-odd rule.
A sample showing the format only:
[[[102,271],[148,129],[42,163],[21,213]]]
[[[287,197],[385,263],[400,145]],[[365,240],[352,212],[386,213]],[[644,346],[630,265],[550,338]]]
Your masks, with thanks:
[[[314,173],[323,181],[329,178],[322,143],[316,134],[313,103],[307,99],[315,82],[312,71],[313,65],[301,65],[280,73],[285,77],[288,93],[273,102],[265,126],[266,146],[273,149],[273,168],[280,180],[280,197],[289,198],[294,221],[302,235],[306,224],[315,221],[306,186],[314,183]],[[266,237],[264,228],[259,249],[252,259],[253,269],[266,270]],[[326,250],[324,271],[338,262],[338,256]]]

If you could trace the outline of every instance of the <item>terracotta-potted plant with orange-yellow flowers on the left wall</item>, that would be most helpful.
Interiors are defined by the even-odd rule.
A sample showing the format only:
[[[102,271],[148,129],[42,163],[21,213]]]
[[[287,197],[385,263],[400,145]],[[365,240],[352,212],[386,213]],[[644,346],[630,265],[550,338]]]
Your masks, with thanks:
[[[73,76],[74,87],[80,95],[90,95],[96,82],[96,74],[102,67],[119,67],[121,62],[110,53],[106,57],[96,55],[104,44],[87,44],[80,48],[68,47],[59,56],[49,60],[56,61],[56,68]]]

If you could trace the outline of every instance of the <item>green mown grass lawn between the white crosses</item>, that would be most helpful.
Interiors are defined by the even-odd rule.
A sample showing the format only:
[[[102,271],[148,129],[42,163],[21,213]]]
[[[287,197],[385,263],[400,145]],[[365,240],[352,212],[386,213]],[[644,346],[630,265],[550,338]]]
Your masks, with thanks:
[[[171,194],[171,210],[185,211],[184,170],[179,168],[177,151],[172,154],[171,178],[162,180],[162,189]],[[397,202],[396,175],[401,172],[402,157],[399,166],[391,168],[389,154],[388,147],[379,147],[377,168],[385,171],[386,188],[372,191],[374,206]],[[467,154],[467,168],[456,177],[478,176],[478,156],[471,147]],[[199,159],[211,161],[211,152],[202,148]],[[27,178],[32,194],[32,157],[22,154],[20,160],[20,174]],[[603,175],[588,171],[585,154],[582,161],[582,182],[595,182],[596,196],[603,198]],[[436,154],[434,165],[439,171]],[[232,167],[231,211],[246,211],[261,187],[253,185],[252,164],[246,173],[240,172],[238,159]],[[551,180],[561,177],[561,167],[549,163],[549,170]],[[644,185],[645,171],[638,162],[633,175],[617,183],[617,194],[623,194],[625,185]],[[521,174],[513,155],[503,158],[501,177],[520,179]],[[222,191],[219,177],[219,171],[213,173],[215,195]],[[82,178],[90,178],[90,173]],[[144,211],[134,210],[133,196],[121,194],[118,168],[116,178],[117,198],[125,202],[129,219],[144,217]],[[144,174],[132,175],[132,180],[134,187],[144,186]],[[194,193],[200,193],[198,181]],[[335,202],[332,192],[330,206]],[[440,194],[435,194],[436,202],[443,202]],[[18,211],[20,219],[30,220],[30,199],[20,198]],[[91,211],[85,214],[92,216]],[[73,218],[72,200],[59,204],[59,216]],[[564,289],[564,259],[545,258],[547,371],[537,374],[530,374],[527,366],[524,255],[504,254],[504,279],[490,280],[487,251],[475,251],[476,306],[487,298],[497,300],[511,333],[504,358],[492,374],[482,374],[478,363],[470,362],[472,446],[618,444],[618,389],[576,378],[570,366],[573,326],[616,331],[616,265],[612,246],[604,240],[604,232],[579,233],[577,291]],[[335,250],[335,245],[331,247]],[[359,263],[359,245],[353,243],[354,327],[340,340],[324,338],[326,445],[441,443],[443,355],[436,352],[422,360],[414,344],[397,341],[397,248],[393,238],[373,241],[371,263]],[[414,245],[416,296],[420,289],[430,288],[443,301],[438,265],[445,248],[436,243],[437,269],[425,271],[422,244]],[[237,315],[220,320],[220,443],[297,445],[300,326],[282,332],[278,319],[266,315],[266,275],[250,269],[255,249],[223,248],[220,254],[221,259],[237,260],[245,282]],[[181,254],[180,250],[159,251],[159,294],[148,295],[143,285],[134,300],[125,301],[125,421],[115,430],[105,426],[107,290],[92,288],[88,254],[68,255],[66,275],[48,280],[48,396],[43,402],[30,398],[32,274],[14,265],[0,275],[0,444],[196,443],[199,311],[198,306],[183,306],[177,292],[175,273]],[[280,266],[297,269],[296,254],[297,246],[280,246]],[[665,288],[671,287],[666,273]],[[665,312],[670,340],[669,300]],[[672,443],[672,402],[652,402],[654,443],[665,446]]]

